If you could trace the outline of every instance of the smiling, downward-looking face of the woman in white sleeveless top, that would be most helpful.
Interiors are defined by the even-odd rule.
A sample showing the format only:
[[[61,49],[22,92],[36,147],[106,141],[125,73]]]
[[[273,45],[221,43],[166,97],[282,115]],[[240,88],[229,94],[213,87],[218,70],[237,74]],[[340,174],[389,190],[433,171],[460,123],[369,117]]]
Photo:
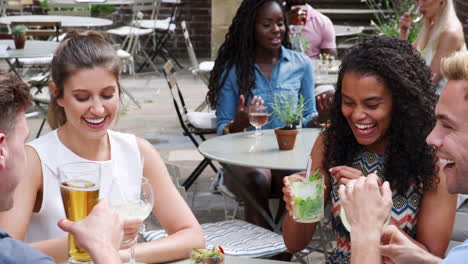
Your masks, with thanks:
[[[117,116],[119,108],[118,84],[112,72],[104,67],[81,69],[64,84],[63,97],[57,99],[65,110],[67,122],[88,139],[99,139]]]

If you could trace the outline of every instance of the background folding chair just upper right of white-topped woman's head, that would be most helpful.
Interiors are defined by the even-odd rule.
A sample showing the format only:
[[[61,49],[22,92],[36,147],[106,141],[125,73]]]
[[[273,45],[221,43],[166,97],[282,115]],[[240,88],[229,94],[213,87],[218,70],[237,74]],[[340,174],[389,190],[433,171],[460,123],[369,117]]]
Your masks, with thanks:
[[[140,43],[140,37],[150,36],[153,33],[153,30],[134,26],[136,23],[135,21],[143,19],[143,12],[156,12],[156,8],[159,7],[158,2],[158,0],[135,0],[134,5],[132,6],[133,16],[130,25],[107,30],[107,33],[117,36],[120,39],[123,38],[123,41],[120,44],[122,51],[120,51],[120,54],[118,52],[118,55],[121,59],[131,62],[130,74],[132,75],[135,73],[134,60],[138,54],[143,56],[145,63],[148,62],[154,71],[158,71],[156,65],[151,61],[149,55]],[[118,41],[114,42],[118,43]]]

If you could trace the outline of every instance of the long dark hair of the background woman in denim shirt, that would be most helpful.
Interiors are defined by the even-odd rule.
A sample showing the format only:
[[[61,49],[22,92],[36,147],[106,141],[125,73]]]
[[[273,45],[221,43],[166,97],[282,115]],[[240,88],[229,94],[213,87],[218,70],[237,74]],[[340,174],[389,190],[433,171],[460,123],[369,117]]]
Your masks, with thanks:
[[[206,99],[211,108],[216,108],[219,91],[233,66],[236,67],[240,94],[247,98],[252,96],[252,89],[255,87],[255,19],[260,8],[269,2],[275,2],[283,9],[280,0],[244,0],[237,10],[210,74]],[[284,9],[283,14],[285,14]],[[286,16],[284,24],[286,32],[281,44],[291,48]],[[223,72],[226,74],[223,75]]]

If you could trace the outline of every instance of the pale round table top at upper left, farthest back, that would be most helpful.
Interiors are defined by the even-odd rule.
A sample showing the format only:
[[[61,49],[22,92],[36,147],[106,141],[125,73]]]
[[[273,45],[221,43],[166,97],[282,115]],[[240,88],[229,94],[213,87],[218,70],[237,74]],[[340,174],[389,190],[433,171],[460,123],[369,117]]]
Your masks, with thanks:
[[[14,21],[21,22],[51,22],[62,23],[62,27],[103,27],[112,25],[112,20],[98,17],[82,16],[49,16],[49,15],[28,15],[28,16],[7,16],[0,17],[1,24],[11,24]]]

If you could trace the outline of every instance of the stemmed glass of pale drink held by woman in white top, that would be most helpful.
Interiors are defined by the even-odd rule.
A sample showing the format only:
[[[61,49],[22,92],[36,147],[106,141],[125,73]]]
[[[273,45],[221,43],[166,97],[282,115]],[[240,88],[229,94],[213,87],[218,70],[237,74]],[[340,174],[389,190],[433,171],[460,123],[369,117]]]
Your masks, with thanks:
[[[124,199],[118,203],[114,202],[114,209],[118,212],[120,220],[133,220],[139,219],[144,221],[151,213],[154,205],[153,186],[151,182],[141,177],[141,190],[139,197],[135,199]],[[141,224],[139,233],[145,232],[145,224]],[[129,264],[135,264],[135,248],[130,247],[130,260]]]

